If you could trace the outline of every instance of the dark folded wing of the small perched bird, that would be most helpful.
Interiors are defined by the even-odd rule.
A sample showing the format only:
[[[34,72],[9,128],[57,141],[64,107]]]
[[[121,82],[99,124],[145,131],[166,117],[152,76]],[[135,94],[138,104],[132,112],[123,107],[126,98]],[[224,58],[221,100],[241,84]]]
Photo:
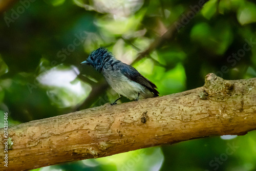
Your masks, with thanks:
[[[120,72],[125,75],[127,78],[140,83],[142,86],[145,86],[148,90],[154,93],[155,96],[158,96],[159,92],[155,89],[156,85],[141,75],[134,67],[129,66],[125,63],[118,67]]]

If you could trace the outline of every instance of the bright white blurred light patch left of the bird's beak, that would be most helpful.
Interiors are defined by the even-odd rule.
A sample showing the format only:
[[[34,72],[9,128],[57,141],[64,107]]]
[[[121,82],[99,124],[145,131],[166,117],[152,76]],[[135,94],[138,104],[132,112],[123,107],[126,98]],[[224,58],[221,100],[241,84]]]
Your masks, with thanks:
[[[61,69],[62,68],[62,69]],[[54,67],[37,77],[42,86],[46,86],[47,95],[59,108],[75,106],[86,97],[91,87],[77,80],[76,68]]]

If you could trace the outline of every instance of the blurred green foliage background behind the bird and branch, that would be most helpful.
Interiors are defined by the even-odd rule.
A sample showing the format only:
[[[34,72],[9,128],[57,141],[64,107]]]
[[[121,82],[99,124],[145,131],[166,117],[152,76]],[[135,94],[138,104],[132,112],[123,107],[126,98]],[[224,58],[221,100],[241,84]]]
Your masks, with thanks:
[[[107,47],[132,63],[171,25],[175,38],[134,65],[161,96],[201,87],[210,72],[224,79],[255,77],[255,2],[210,0],[197,13],[201,2],[17,2],[0,20],[0,120],[4,112],[10,126],[76,110],[104,83],[94,69],[79,65],[91,51]],[[84,106],[117,97],[111,89],[100,91]],[[256,170],[255,139],[255,131],[202,138],[36,170]]]

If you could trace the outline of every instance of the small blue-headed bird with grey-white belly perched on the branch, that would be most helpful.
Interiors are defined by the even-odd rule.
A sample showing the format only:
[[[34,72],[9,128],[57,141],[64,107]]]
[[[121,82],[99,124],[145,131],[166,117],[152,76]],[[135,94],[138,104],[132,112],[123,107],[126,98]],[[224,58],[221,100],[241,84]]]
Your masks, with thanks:
[[[105,48],[94,50],[87,60],[81,65],[87,64],[101,73],[110,87],[118,93],[116,102],[123,96],[136,100],[159,96],[156,85],[142,76],[134,67],[123,63]]]

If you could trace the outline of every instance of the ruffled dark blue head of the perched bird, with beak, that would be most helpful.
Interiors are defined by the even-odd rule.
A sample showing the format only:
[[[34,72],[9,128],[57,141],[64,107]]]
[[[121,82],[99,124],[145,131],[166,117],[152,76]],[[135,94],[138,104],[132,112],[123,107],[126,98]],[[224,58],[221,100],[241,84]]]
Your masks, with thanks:
[[[105,48],[99,48],[93,51],[87,60],[81,62],[81,64],[87,64],[93,66],[97,71],[101,72],[105,62],[109,61],[113,55]]]

